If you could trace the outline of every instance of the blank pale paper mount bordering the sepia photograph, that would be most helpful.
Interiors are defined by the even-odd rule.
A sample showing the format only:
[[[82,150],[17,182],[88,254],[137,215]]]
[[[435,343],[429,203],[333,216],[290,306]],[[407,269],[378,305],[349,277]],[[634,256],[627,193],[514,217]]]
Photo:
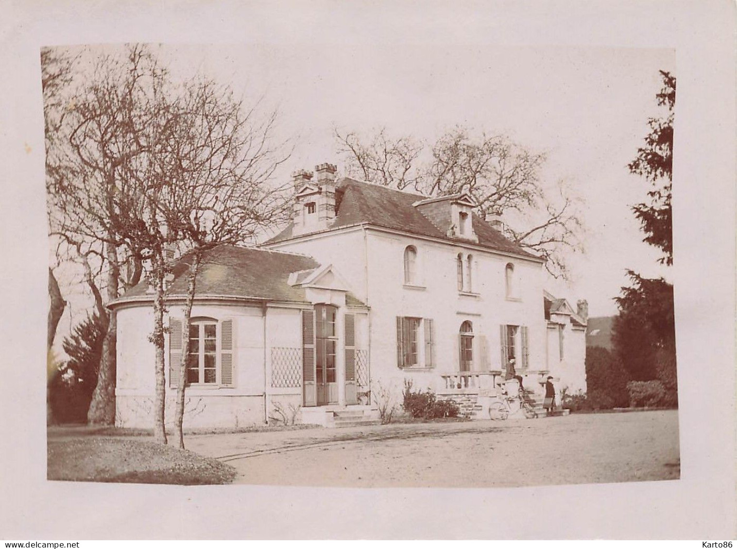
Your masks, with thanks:
[[[735,536],[733,3],[2,1],[0,14],[0,537]],[[674,48],[680,481],[463,490],[46,481],[39,48],[133,41]]]

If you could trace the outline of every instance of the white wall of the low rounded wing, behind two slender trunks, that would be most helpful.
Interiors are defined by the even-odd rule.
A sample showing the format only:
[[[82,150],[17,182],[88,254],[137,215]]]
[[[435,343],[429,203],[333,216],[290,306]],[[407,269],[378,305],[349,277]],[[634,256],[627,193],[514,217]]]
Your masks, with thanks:
[[[268,308],[266,322],[262,308],[232,304],[198,304],[192,317],[233,319],[234,387],[189,386],[186,390],[186,427],[240,427],[264,423],[270,367],[270,347],[299,347],[301,327],[296,308]],[[171,305],[164,319],[181,318],[181,306]],[[148,335],[153,330],[151,305],[119,308],[117,340],[116,425],[150,428],[153,425],[153,397],[156,377],[155,353]],[[267,345],[265,347],[265,336]],[[169,336],[164,341],[167,379],[167,424],[173,419],[176,389],[169,384]],[[266,353],[265,353],[266,350]],[[270,378],[268,378],[270,379]],[[296,390],[299,394],[299,389]]]

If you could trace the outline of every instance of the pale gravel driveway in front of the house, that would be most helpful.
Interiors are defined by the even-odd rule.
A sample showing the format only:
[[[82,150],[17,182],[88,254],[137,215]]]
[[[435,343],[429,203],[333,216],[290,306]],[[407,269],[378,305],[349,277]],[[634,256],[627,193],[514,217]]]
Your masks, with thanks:
[[[540,486],[679,478],[678,412],[190,435],[240,484]]]

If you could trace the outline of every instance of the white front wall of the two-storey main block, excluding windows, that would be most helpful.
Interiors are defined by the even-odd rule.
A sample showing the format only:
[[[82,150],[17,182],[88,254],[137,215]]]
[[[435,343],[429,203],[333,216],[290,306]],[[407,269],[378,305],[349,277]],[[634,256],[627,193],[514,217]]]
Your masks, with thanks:
[[[419,255],[419,287],[404,284],[404,251]],[[471,254],[472,295],[458,291],[456,257]],[[462,244],[424,241],[368,231],[368,305],[371,306],[371,371],[374,379],[402,386],[441,389],[440,373],[457,372],[458,332],[472,322],[473,370],[502,369],[500,325],[527,326],[530,369],[545,361],[540,263],[509,258]],[[517,299],[506,298],[505,267],[514,263]],[[397,367],[397,316],[433,319],[435,365],[427,372]]]

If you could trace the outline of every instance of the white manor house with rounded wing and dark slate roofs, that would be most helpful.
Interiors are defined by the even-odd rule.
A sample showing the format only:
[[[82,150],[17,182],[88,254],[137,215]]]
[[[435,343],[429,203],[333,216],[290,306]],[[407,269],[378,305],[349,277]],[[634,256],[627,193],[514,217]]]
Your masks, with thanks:
[[[497,392],[512,358],[525,389],[542,394],[551,375],[557,392],[585,392],[586,302],[573,310],[546,292],[540,258],[465,194],[427,198],[336,171],[294,174],[292,222],[261,247],[209,252],[189,334],[186,264],[175,266],[167,422],[187,336],[187,427],[263,424],[279,410],[322,425],[375,417],[377,392],[399,404],[405,380],[470,409]],[[141,283],[108,305],[120,427],[153,422],[152,303]]]

